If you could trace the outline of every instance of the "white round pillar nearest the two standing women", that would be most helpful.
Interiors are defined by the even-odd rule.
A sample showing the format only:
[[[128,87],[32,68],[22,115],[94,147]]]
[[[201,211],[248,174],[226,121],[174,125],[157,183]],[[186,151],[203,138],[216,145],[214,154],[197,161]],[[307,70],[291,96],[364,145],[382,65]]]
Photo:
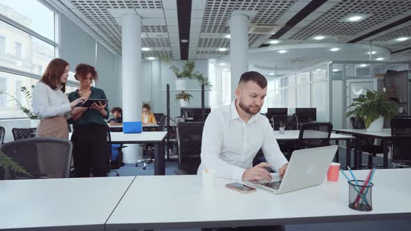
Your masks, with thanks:
[[[121,28],[123,86],[123,121],[141,121],[141,17],[137,14],[123,15]],[[123,161],[135,163],[141,158],[139,145],[128,145],[124,149]]]

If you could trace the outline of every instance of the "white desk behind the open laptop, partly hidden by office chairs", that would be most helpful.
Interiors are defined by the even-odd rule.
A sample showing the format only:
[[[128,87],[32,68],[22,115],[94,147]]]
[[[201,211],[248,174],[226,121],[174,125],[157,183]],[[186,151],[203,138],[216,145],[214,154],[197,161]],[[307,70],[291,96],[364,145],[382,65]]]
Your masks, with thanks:
[[[313,131],[317,132],[317,131]],[[277,141],[297,141],[298,136],[300,134],[300,130],[286,130],[284,134],[279,134],[279,131],[274,130],[274,137]],[[329,137],[330,140],[336,141],[338,145],[339,141],[346,141],[346,165],[351,165],[351,140],[355,137],[353,136],[346,136],[341,134],[332,133]],[[335,161],[339,162],[339,152],[336,153]],[[344,167],[345,168],[345,167]]]

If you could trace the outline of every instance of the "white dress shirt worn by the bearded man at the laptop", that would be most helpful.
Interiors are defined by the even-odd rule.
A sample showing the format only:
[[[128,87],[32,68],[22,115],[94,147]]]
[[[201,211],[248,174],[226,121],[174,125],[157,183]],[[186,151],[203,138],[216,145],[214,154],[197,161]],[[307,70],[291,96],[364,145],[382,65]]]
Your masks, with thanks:
[[[288,163],[265,116],[256,114],[246,123],[240,119],[235,101],[221,106],[212,110],[204,125],[197,174],[207,167],[217,170],[218,177],[242,180],[260,148],[274,171]]]

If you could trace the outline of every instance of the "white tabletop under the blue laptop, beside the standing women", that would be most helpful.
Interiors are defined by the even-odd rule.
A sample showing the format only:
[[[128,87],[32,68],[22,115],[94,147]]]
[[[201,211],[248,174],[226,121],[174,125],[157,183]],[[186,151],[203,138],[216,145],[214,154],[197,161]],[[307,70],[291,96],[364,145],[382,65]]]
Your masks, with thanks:
[[[71,139],[72,133],[68,135]],[[111,143],[160,143],[166,137],[167,132],[141,132],[123,134],[123,132],[111,132]]]

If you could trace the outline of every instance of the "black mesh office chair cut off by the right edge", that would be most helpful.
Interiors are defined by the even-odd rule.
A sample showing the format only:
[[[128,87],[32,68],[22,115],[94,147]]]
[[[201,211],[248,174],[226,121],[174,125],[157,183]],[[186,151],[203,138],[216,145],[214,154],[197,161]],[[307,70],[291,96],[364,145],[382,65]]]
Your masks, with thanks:
[[[396,167],[411,166],[411,118],[391,119],[391,164]]]

